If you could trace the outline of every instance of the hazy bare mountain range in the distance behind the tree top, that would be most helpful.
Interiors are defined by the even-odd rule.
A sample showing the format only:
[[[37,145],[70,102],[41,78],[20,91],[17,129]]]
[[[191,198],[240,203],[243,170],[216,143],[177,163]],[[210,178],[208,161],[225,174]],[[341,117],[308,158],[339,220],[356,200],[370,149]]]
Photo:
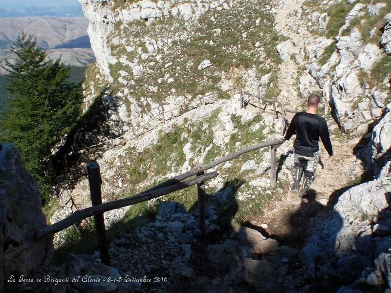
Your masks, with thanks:
[[[37,38],[47,50],[48,58],[61,56],[63,63],[85,66],[95,60],[87,35],[88,21],[84,17],[18,17],[0,19],[0,64],[13,60],[10,46],[22,31]],[[0,74],[5,74],[0,69]]]

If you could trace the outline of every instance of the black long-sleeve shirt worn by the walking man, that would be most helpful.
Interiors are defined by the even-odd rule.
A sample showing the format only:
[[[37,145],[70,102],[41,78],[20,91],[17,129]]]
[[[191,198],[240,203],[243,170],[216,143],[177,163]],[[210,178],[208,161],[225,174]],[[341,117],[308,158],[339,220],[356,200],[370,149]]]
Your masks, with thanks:
[[[284,139],[289,140],[296,132],[296,139],[293,143],[295,152],[299,155],[313,157],[313,153],[319,150],[319,137],[330,156],[333,155],[330,135],[326,119],[318,114],[307,112],[296,113],[293,116]]]

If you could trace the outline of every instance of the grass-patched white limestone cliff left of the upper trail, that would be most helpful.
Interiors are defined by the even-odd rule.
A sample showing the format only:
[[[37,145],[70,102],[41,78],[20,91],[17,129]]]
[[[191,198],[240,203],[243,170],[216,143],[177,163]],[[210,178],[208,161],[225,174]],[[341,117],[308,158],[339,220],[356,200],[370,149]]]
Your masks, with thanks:
[[[274,63],[260,64],[262,56],[276,55],[278,36],[263,31],[273,23],[268,5],[259,11],[256,1],[80,2],[97,58],[87,71],[86,102],[103,94],[109,119],[119,132],[130,126],[134,130],[163,110],[169,112],[166,119],[177,116],[179,110],[174,109],[199,95],[227,96],[232,87],[232,81],[225,81],[230,66],[253,67],[252,75],[276,69]],[[249,24],[250,30],[244,32]],[[237,31],[224,30],[230,26]],[[262,37],[264,42],[257,41]],[[252,90],[257,86],[253,84]]]

